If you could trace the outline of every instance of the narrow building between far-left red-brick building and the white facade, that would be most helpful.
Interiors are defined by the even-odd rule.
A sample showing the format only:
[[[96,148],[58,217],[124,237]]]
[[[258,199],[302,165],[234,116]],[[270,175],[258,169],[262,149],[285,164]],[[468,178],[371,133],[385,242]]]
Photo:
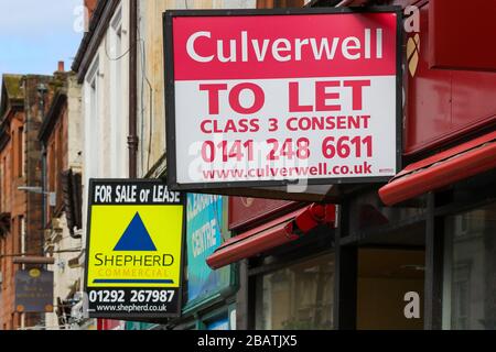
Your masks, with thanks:
[[[54,258],[48,270],[54,273],[55,311],[46,315],[50,329],[69,329],[76,321],[72,315],[80,300],[84,255],[82,244],[82,170],[83,128],[82,94],[74,74],[63,63],[54,74],[57,80],[54,99],[43,119],[39,139],[43,151],[44,189],[53,204],[44,202],[43,224],[45,253]]]

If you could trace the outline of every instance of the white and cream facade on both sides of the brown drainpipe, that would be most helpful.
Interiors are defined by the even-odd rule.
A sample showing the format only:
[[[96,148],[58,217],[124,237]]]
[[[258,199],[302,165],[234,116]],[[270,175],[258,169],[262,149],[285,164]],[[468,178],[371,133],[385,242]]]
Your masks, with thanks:
[[[89,11],[93,13],[89,32],[83,38],[73,65],[77,80],[83,85],[84,194],[93,177],[159,178],[164,175],[162,13],[168,9],[254,8],[255,3],[255,0],[94,3],[95,10]],[[86,209],[84,202],[84,219]],[[85,223],[86,220],[84,228]],[[231,279],[227,279],[228,286],[234,285]],[[203,302],[203,307],[208,302]],[[190,317],[194,312],[191,310]],[[122,324],[101,321],[99,327],[121,329]]]

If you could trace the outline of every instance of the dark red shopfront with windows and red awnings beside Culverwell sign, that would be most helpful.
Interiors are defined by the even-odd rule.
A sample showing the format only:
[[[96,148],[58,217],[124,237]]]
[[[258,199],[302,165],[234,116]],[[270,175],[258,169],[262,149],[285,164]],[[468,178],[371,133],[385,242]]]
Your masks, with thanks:
[[[238,329],[496,329],[496,3],[347,4],[385,2],[405,9],[402,170],[337,207],[230,198],[208,264],[240,262]]]

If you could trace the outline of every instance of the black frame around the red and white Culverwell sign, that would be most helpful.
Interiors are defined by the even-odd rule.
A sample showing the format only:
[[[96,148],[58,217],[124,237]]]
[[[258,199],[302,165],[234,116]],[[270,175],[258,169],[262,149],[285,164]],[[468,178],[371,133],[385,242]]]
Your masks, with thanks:
[[[201,191],[223,187],[277,187],[296,184],[299,179],[192,183],[177,184],[176,173],[176,135],[175,135],[175,79],[173,19],[176,16],[229,16],[229,15],[284,15],[284,14],[343,14],[343,13],[396,13],[397,16],[397,58],[396,58],[396,170],[402,167],[402,120],[403,120],[403,75],[402,75],[402,9],[398,6],[360,7],[360,8],[296,8],[296,9],[248,9],[248,10],[168,10],[163,13],[163,44],[165,69],[165,136],[166,136],[166,180],[172,190]],[[306,178],[308,185],[339,185],[387,183],[393,176],[385,177],[346,177],[346,178]]]

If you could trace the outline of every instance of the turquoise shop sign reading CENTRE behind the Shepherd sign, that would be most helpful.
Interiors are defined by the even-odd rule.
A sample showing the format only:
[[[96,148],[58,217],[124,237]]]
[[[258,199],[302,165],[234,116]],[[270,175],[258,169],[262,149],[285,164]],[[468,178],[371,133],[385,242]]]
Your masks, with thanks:
[[[213,271],[206,258],[223,244],[222,196],[187,195],[187,301],[205,299],[226,288],[230,270]],[[224,232],[225,234],[225,232]]]

